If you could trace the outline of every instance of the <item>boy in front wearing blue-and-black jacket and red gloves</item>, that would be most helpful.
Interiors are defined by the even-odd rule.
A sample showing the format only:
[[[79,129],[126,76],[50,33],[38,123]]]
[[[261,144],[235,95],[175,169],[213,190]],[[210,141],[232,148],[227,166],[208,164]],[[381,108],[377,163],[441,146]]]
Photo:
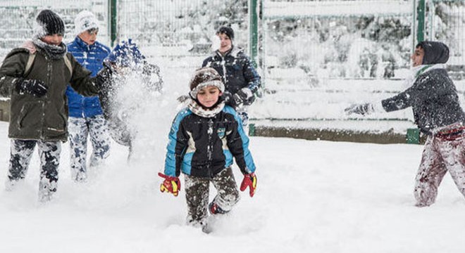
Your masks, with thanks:
[[[233,157],[244,179],[240,190],[256,189],[255,164],[249,151],[249,138],[240,117],[225,105],[221,95],[225,86],[211,67],[197,70],[190,82],[190,101],[176,115],[169,134],[165,174],[160,190],[177,196],[179,176],[185,174],[187,223],[206,230],[207,209],[211,214],[225,214],[239,201],[240,195],[231,165]],[[210,182],[217,195],[209,204]]]

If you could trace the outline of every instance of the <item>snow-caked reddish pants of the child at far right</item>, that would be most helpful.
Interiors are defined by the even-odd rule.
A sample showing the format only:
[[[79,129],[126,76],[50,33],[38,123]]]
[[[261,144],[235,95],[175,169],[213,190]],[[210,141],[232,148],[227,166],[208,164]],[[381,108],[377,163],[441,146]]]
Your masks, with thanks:
[[[465,131],[450,136],[428,136],[415,179],[416,206],[426,207],[435,202],[447,171],[465,196]]]

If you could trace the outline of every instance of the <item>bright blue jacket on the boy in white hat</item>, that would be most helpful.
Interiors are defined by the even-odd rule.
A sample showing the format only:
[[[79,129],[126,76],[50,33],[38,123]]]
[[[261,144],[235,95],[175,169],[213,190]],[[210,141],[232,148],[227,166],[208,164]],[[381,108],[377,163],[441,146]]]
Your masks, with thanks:
[[[87,45],[82,39],[76,37],[68,44],[68,52],[73,54],[78,63],[90,70],[94,77],[103,67],[104,58],[109,55],[111,49],[99,41],[95,41],[93,45]],[[82,96],[69,85],[66,89],[66,96],[68,96],[70,117],[93,117],[103,113],[98,96]]]

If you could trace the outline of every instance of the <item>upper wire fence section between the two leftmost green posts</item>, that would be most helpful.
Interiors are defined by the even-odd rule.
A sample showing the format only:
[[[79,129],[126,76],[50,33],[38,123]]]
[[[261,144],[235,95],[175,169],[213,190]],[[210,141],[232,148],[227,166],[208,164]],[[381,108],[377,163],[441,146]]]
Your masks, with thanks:
[[[117,7],[117,40],[135,39],[149,55],[205,56],[223,24],[247,47],[247,0],[120,0]]]

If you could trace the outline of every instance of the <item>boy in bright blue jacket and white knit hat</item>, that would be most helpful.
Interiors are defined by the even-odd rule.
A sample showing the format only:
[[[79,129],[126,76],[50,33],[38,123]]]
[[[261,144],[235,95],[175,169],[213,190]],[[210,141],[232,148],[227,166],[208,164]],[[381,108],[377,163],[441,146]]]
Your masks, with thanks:
[[[78,63],[97,75],[111,49],[97,41],[99,20],[89,11],[81,11],[75,18],[74,41],[68,44]],[[70,140],[71,178],[80,182],[87,179],[87,136],[93,152],[90,167],[95,167],[109,156],[110,136],[98,96],[85,97],[68,86],[68,131]]]

